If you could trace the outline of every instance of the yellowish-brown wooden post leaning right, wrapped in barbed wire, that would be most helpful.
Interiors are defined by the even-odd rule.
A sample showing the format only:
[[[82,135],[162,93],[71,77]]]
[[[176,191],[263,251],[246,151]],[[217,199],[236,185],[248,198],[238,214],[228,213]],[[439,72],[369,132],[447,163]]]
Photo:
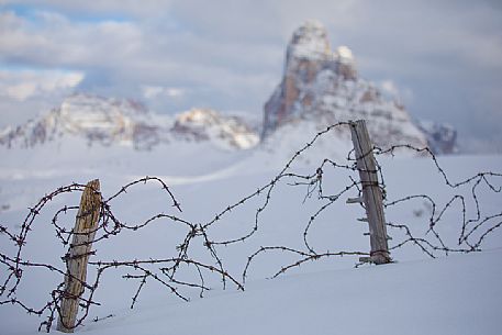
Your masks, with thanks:
[[[78,210],[74,237],[66,258],[65,292],[60,305],[57,331],[72,333],[77,321],[79,298],[83,293],[82,283],[87,278],[87,263],[101,209],[99,180],[89,181],[83,190]]]

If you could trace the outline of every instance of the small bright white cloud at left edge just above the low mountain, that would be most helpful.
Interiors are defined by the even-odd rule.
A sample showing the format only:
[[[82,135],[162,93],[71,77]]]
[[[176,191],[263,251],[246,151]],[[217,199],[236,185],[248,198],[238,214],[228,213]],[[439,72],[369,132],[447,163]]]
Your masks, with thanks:
[[[79,71],[0,70],[0,96],[25,101],[36,96],[65,93],[83,77]]]

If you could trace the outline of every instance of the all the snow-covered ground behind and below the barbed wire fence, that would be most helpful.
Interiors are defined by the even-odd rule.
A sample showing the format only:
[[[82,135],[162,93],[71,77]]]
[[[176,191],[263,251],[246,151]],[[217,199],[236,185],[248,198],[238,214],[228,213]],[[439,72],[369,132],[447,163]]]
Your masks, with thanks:
[[[74,144],[71,144],[74,146]],[[0,224],[10,230],[20,223],[32,206],[45,193],[72,181],[85,183],[100,178],[104,198],[120,190],[121,186],[146,175],[159,176],[183,210],[178,215],[192,223],[210,222],[227,205],[252,194],[267,185],[286,161],[280,155],[259,150],[224,153],[211,147],[190,146],[157,148],[149,153],[133,153],[126,148],[111,150],[68,150],[64,157],[46,152],[2,152],[0,166]],[[82,150],[85,155],[82,155]],[[121,152],[122,150],[122,152]],[[57,152],[56,152],[57,153]],[[10,155],[10,156],[9,156]],[[55,155],[57,156],[57,155]],[[343,155],[337,157],[343,161]],[[79,164],[76,164],[78,161]],[[314,174],[322,160],[310,158],[293,164],[291,171]],[[346,161],[345,161],[346,163]],[[467,219],[476,219],[472,183],[459,189],[448,188],[431,159],[410,156],[380,157],[388,201],[412,194],[432,197],[438,209],[455,194],[466,198]],[[499,171],[502,156],[450,156],[439,164],[453,182],[475,176],[480,171]],[[357,174],[341,169],[324,170],[324,192],[336,194],[350,185],[349,177]],[[500,187],[502,178],[488,177]],[[291,186],[298,181],[283,178],[271,192],[270,202],[260,213],[258,231],[243,243],[217,246],[225,269],[242,281],[248,257],[261,246],[286,246],[305,250],[303,232],[310,217],[326,204],[316,193],[305,197],[308,186]],[[369,252],[369,237],[362,234],[366,224],[358,205],[345,203],[355,197],[350,190],[317,216],[309,231],[309,244],[319,253],[338,250]],[[78,204],[79,194],[56,198],[35,221],[30,233],[25,258],[64,267],[60,257],[65,247],[55,238],[49,219],[65,204]],[[493,192],[483,181],[476,189],[481,217],[501,213],[501,194]],[[253,230],[256,211],[266,201],[266,194],[253,198],[236,208],[208,230],[213,241],[238,238]],[[112,202],[120,220],[140,223],[156,213],[175,211],[169,198],[158,185],[147,183],[131,189]],[[408,201],[386,211],[387,220],[409,225],[420,237],[434,241],[428,228],[431,205],[423,199]],[[436,212],[436,215],[438,213]],[[62,224],[70,228],[75,212],[63,216]],[[498,217],[475,233],[480,236]],[[443,215],[437,231],[445,244],[455,247],[461,231],[462,209],[456,201]],[[123,260],[172,257],[176,246],[182,242],[186,231],[169,221],[157,221],[135,233],[96,243],[92,259]],[[390,230],[390,245],[397,245],[404,236],[399,230]],[[475,236],[475,237],[476,237]],[[476,238],[473,238],[476,239]],[[7,236],[0,236],[0,250],[14,250]],[[190,249],[194,259],[212,264],[202,245],[196,239]],[[190,298],[183,302],[154,281],[148,281],[133,310],[131,299],[138,281],[124,280],[127,271],[119,268],[107,272],[97,291],[96,301],[88,319],[76,332],[83,334],[500,334],[502,320],[502,228],[493,231],[483,241],[483,252],[472,254],[435,253],[427,257],[413,244],[393,250],[397,261],[384,266],[354,268],[357,256],[328,257],[309,261],[275,279],[267,279],[283,266],[298,260],[294,255],[269,252],[258,255],[250,264],[245,291],[234,286],[222,289],[221,277],[207,275],[205,284],[211,291],[199,298],[199,290],[183,289]],[[3,268],[2,268],[3,271]],[[5,272],[0,272],[4,280]],[[96,273],[89,275],[91,278]],[[193,279],[187,271],[187,280]],[[191,277],[192,276],[192,277]],[[192,279],[191,279],[192,278]],[[49,292],[62,281],[57,273],[27,271],[23,276],[18,298],[37,308],[49,300]],[[3,297],[2,297],[3,298]],[[111,317],[107,317],[113,315]],[[92,322],[94,317],[103,319]],[[35,334],[40,322],[15,305],[0,306],[1,334]],[[55,326],[55,323],[54,325]],[[53,332],[56,332],[55,328]]]

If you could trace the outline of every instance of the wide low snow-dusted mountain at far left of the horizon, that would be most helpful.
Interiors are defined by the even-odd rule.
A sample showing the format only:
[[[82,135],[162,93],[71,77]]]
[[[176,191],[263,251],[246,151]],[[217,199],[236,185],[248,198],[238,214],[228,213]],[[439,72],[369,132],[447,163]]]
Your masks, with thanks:
[[[101,98],[88,94],[68,97],[59,108],[37,120],[0,135],[8,147],[32,147],[65,135],[83,137],[89,144],[99,142],[144,147],[156,136],[146,109],[133,100]]]

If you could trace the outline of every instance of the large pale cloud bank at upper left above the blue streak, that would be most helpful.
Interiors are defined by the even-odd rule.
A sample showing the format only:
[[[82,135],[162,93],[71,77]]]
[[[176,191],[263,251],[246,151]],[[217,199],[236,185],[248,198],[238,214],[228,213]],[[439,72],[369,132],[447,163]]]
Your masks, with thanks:
[[[72,22],[35,11],[36,20],[0,12],[0,60],[41,67],[124,67],[141,59],[143,33],[133,22]]]

